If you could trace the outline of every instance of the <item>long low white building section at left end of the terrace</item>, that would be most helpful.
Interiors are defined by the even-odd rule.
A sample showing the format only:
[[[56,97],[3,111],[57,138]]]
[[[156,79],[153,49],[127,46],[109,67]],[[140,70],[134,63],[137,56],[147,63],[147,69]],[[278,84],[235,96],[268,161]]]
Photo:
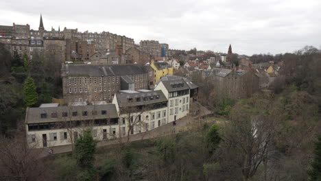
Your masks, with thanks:
[[[86,129],[97,141],[119,135],[119,117],[115,104],[27,108],[25,129],[29,147],[70,145]]]

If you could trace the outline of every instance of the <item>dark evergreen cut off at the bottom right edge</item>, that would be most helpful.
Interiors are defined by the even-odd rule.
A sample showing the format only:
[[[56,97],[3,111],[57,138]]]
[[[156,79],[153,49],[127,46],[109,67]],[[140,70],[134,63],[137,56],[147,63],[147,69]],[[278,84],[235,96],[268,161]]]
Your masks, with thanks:
[[[311,181],[321,180],[321,134],[318,135],[318,141],[314,143],[314,158],[311,163],[312,169],[308,171]]]

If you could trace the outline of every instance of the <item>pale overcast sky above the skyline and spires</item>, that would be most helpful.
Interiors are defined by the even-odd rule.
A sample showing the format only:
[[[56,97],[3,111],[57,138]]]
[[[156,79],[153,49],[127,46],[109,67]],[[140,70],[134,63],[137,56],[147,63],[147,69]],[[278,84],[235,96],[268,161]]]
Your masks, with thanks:
[[[320,0],[105,0],[1,2],[0,24],[78,28],[168,43],[170,49],[286,53],[320,48]]]

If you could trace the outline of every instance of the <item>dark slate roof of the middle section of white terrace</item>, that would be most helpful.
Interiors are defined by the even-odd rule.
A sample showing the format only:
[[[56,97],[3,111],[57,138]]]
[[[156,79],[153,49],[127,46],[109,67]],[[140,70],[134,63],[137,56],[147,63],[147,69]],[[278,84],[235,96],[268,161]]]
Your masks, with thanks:
[[[141,93],[123,93],[117,94],[116,97],[119,108],[127,106],[143,106],[167,101],[167,98],[165,97],[162,90],[152,90],[149,92]],[[137,101],[136,98],[139,97],[140,101]],[[145,100],[143,97],[147,97],[147,100]]]

